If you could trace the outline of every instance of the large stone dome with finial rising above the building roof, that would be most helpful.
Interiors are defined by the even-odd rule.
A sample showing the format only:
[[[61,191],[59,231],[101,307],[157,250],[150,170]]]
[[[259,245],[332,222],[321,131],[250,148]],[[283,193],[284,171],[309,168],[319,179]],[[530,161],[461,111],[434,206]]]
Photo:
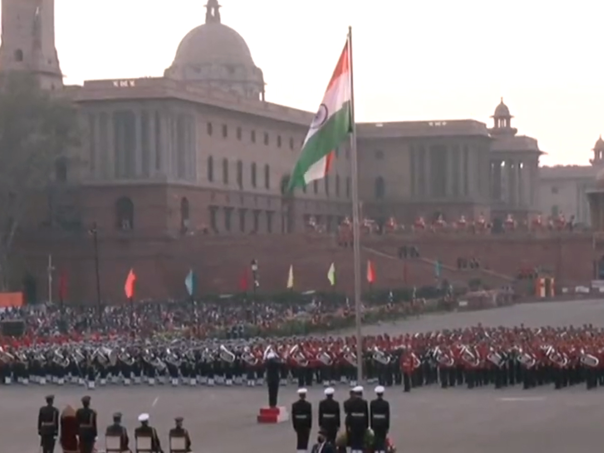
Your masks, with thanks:
[[[222,24],[218,0],[205,5],[205,24],[189,31],[176,50],[165,77],[265,100],[262,70],[243,37]]]

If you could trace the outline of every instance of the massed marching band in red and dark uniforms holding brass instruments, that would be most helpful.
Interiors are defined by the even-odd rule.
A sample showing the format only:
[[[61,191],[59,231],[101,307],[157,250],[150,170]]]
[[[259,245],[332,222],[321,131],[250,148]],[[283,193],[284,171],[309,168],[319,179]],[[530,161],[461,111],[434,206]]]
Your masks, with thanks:
[[[267,348],[267,345],[269,346]],[[266,350],[271,350],[267,358]],[[247,385],[265,382],[276,361],[279,385],[329,387],[356,384],[354,337],[252,339],[250,341],[118,341],[8,345],[0,350],[4,384],[68,383]],[[364,378],[404,391],[424,385],[561,389],[604,385],[604,330],[593,326],[483,327],[389,336],[366,336]]]

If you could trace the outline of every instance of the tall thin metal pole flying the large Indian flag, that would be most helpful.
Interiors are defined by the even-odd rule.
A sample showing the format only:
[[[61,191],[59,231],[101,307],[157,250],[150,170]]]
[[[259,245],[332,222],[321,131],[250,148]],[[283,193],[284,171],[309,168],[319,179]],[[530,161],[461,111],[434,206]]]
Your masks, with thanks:
[[[348,53],[350,63],[350,167],[352,185],[352,245],[355,268],[355,324],[356,324],[356,373],[357,381],[363,379],[363,337],[361,332],[361,228],[359,219],[359,162],[356,153],[355,85],[352,64],[352,27],[348,27]]]

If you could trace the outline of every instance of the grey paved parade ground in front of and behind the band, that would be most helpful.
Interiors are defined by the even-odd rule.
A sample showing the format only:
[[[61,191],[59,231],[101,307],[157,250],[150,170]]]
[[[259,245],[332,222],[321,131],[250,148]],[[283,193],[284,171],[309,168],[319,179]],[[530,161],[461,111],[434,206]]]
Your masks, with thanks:
[[[519,305],[471,313],[424,316],[397,324],[365,329],[367,333],[417,332],[445,327],[580,325],[604,327],[604,301]],[[368,399],[373,398],[366,393]],[[170,388],[108,387],[85,391],[78,387],[0,387],[0,439],[6,451],[39,451],[36,438],[37,410],[45,394],[56,395],[56,406],[79,407],[84,394],[92,396],[98,411],[99,431],[104,432],[111,414],[121,411],[124,424],[132,430],[137,416],[150,414],[167,452],[167,431],[173,418],[182,416],[196,453],[286,453],[295,451],[291,423],[258,425],[255,416],[266,404],[265,388]],[[309,389],[316,406],[323,389]],[[347,397],[344,386],[336,388],[336,399]],[[493,387],[467,390],[431,386],[403,394],[402,388],[388,388],[393,421],[391,436],[401,453],[568,453],[597,451],[604,429],[604,388],[580,387],[554,391],[541,387],[522,391],[518,385],[505,390]],[[280,405],[296,399],[295,387],[281,387]],[[313,435],[316,437],[316,420]],[[10,448],[8,448],[10,446]],[[59,448],[56,449],[59,451]]]

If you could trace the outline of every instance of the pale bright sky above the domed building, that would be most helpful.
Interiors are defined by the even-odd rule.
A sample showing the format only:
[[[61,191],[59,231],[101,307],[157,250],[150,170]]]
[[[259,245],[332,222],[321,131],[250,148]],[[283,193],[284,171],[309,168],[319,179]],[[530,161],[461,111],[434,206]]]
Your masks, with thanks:
[[[588,164],[604,133],[604,2],[221,0],[268,101],[315,111],[348,25],[358,121],[487,122],[500,97],[547,164]],[[161,76],[204,0],[56,0],[66,83]]]

